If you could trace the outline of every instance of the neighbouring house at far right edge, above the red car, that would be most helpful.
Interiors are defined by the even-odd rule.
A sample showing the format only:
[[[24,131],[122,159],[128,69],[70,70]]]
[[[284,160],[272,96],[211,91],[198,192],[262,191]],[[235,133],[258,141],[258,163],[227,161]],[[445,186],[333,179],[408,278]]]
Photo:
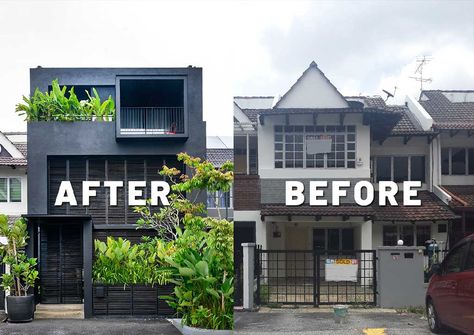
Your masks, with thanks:
[[[440,173],[433,182],[461,216],[452,230],[457,241],[474,233],[474,90],[423,91],[419,102],[439,133],[433,150]]]

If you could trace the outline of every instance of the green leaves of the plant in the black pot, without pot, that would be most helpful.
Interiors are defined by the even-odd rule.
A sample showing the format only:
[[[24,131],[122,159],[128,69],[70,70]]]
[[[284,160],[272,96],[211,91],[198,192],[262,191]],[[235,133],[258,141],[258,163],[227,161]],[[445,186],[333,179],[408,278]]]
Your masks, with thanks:
[[[10,266],[10,273],[2,275],[0,286],[11,295],[26,296],[28,289],[35,285],[38,271],[36,258],[28,258],[24,250],[28,239],[25,219],[10,225],[7,216],[0,215],[0,236],[7,238],[7,244],[0,244],[0,256],[2,262]]]

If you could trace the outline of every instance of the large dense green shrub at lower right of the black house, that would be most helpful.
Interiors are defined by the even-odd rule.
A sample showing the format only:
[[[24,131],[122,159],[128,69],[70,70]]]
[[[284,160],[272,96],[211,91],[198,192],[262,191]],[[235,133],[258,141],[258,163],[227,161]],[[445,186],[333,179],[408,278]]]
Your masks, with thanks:
[[[192,228],[184,230],[175,241],[176,252],[165,258],[174,270],[171,282],[176,285],[174,296],[165,298],[186,325],[232,329],[233,226],[226,220],[203,220],[208,224],[207,232],[194,235],[186,234]],[[186,246],[190,244],[200,247]]]

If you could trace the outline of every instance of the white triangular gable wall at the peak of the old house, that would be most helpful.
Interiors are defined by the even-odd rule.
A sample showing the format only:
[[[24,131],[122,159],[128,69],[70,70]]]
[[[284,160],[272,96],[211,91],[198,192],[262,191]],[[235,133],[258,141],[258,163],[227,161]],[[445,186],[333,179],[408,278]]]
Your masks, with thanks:
[[[316,66],[310,66],[277,103],[278,108],[345,108],[347,102]]]

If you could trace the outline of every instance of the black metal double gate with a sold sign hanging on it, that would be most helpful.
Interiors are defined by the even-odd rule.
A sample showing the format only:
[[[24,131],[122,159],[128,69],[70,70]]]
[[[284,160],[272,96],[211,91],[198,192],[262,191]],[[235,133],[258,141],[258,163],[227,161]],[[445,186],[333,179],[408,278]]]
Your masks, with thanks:
[[[258,305],[375,305],[375,250],[262,250],[256,248]],[[354,281],[326,280],[326,264],[357,264]]]

